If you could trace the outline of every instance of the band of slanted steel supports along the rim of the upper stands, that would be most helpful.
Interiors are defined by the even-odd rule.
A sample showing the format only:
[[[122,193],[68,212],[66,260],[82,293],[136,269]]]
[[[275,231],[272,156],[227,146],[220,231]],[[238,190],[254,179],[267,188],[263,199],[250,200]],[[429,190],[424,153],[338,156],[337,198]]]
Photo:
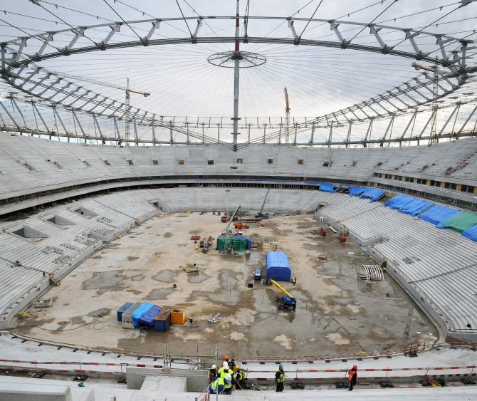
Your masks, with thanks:
[[[20,132],[25,133],[26,135],[38,135],[45,137],[47,136],[50,140],[52,136],[56,137],[66,137],[67,141],[70,140],[80,140],[85,143],[88,140],[95,140],[102,144],[106,143],[115,143],[117,145],[121,145],[126,142],[125,135],[121,134],[120,127],[117,125],[117,119],[113,117],[112,124],[113,124],[113,133],[112,135],[105,135],[102,130],[102,124],[105,121],[105,118],[101,117],[98,118],[98,115],[93,113],[82,113],[78,110],[72,109],[63,109],[63,117],[62,113],[58,113],[58,110],[62,108],[60,106],[52,106],[50,103],[47,103],[43,100],[32,100],[28,98],[24,98],[23,95],[14,95],[14,94],[3,94],[2,97],[5,99],[3,102],[0,101],[0,131],[7,131],[7,132]],[[10,103],[10,108],[6,107],[5,103]],[[457,102],[454,104],[449,105],[451,108],[451,113],[449,114],[449,118],[444,122],[441,127],[441,130],[437,132],[437,139],[458,139],[459,137],[468,137],[468,136],[476,136],[477,135],[477,99],[468,100],[468,102]],[[457,124],[457,115],[458,110],[461,108],[462,105],[472,105],[473,109],[468,114],[466,120],[461,123],[460,125]],[[23,105],[23,111],[20,105]],[[31,108],[33,110],[33,119],[36,122],[36,127],[32,127],[26,123],[26,118],[24,117],[25,108]],[[43,110],[43,111],[42,111]],[[54,128],[52,124],[48,127],[48,117],[44,115],[46,110],[53,110],[53,118],[54,118]],[[271,124],[263,124],[261,127],[258,124],[253,124],[255,129],[263,129],[263,135],[256,137],[256,139],[250,139],[250,130],[252,127],[251,123],[246,123],[241,125],[241,129],[248,130],[248,141],[239,144],[239,147],[234,147],[233,144],[229,142],[222,142],[220,140],[221,128],[226,130],[229,129],[231,125],[221,124],[221,123],[210,123],[206,124],[204,122],[199,123],[196,121],[192,123],[190,121],[174,122],[174,121],[164,121],[164,120],[153,120],[152,122],[152,139],[142,139],[138,137],[137,131],[135,130],[135,137],[130,139],[131,144],[135,145],[196,145],[196,144],[204,144],[204,143],[216,143],[224,147],[229,147],[231,149],[246,147],[247,145],[251,145],[253,143],[277,143],[281,145],[294,145],[294,146],[332,146],[332,145],[345,145],[349,147],[350,145],[361,145],[362,147],[368,147],[369,145],[390,145],[391,143],[402,143],[406,142],[417,142],[419,144],[420,141],[426,141],[431,139],[431,134],[424,135],[426,132],[426,128],[429,126],[431,122],[431,117],[427,120],[424,127],[419,130],[419,132],[413,132],[412,127],[414,126],[414,122],[416,120],[416,115],[419,112],[428,113],[431,115],[431,105],[428,106],[427,109],[413,109],[408,110],[407,116],[409,121],[407,122],[406,127],[402,132],[394,132],[394,134],[400,134],[397,136],[393,135],[393,128],[394,128],[394,120],[396,115],[388,116],[389,122],[387,123],[387,127],[382,133],[381,137],[376,139],[371,139],[371,132],[372,126],[375,122],[374,119],[370,119],[367,122],[362,122],[362,124],[367,123],[367,130],[365,138],[362,140],[352,140],[352,128],[357,124],[357,122],[350,120],[348,123],[342,123],[340,127],[347,127],[347,137],[345,140],[337,140],[333,139],[332,131],[333,128],[338,127],[338,125],[330,124],[330,127],[327,129],[329,130],[329,135],[327,136],[327,140],[325,141],[317,141],[314,139],[315,130],[318,128],[323,128],[318,126],[316,120],[307,120],[305,123],[295,123],[295,135],[292,142],[288,144],[284,144],[281,141],[281,132],[282,132],[282,124],[277,123],[275,125]],[[73,121],[73,127],[68,127],[68,124],[65,123],[65,116],[64,113],[70,113],[71,117],[70,120]],[[48,111],[48,114],[51,114]],[[87,130],[84,127],[84,124],[81,123],[79,117],[90,116],[93,119],[93,129]],[[51,117],[50,117],[51,119]],[[11,123],[8,123],[10,120]],[[201,132],[194,131],[189,127],[189,125],[193,125],[198,129],[201,129]],[[213,127],[214,125],[217,126],[217,137],[210,137],[208,135],[204,135],[204,128],[207,125],[208,128]],[[157,135],[155,133],[156,129],[165,129],[169,132],[169,138],[167,140],[157,140]],[[267,128],[270,132],[267,133]],[[446,130],[446,128],[448,128]],[[89,131],[95,132],[92,135]],[[300,133],[307,132],[310,135],[310,140],[307,142],[298,142],[297,141],[297,132],[300,130]],[[428,130],[429,131],[429,130]],[[429,131],[430,132],[430,131]],[[182,140],[176,140],[174,138],[174,134],[180,134],[183,138]]]

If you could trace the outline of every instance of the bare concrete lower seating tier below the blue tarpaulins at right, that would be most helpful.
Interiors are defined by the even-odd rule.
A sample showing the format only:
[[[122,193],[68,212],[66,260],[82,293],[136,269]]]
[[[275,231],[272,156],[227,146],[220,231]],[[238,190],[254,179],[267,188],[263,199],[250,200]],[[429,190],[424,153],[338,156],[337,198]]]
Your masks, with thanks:
[[[359,240],[384,238],[372,249],[396,266],[409,286],[431,299],[449,328],[468,330],[470,324],[475,330],[477,244],[382,204],[345,197],[349,199],[332,202],[318,213],[334,222],[339,219]]]

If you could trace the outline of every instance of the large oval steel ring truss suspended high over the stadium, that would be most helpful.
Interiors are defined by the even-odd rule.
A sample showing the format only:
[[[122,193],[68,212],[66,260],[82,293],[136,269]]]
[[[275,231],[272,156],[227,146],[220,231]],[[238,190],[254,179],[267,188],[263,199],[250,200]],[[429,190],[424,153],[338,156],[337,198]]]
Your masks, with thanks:
[[[461,6],[466,6],[469,2],[462,3]],[[313,121],[295,125],[295,132],[303,127],[308,127],[309,124],[313,125],[313,131],[316,127],[326,127],[330,129],[329,139],[324,145],[332,145],[332,127],[333,125],[351,125],[357,122],[369,122],[368,133],[372,128],[372,122],[376,119],[394,118],[396,115],[402,115],[409,113],[409,110],[417,110],[423,105],[432,103],[433,99],[433,85],[438,85],[440,90],[439,98],[444,98],[451,93],[454,93],[458,88],[466,83],[469,75],[477,72],[477,66],[475,64],[468,65],[468,51],[476,49],[473,46],[473,41],[468,41],[464,38],[454,38],[452,36],[446,36],[426,31],[420,31],[410,28],[399,28],[394,26],[385,26],[379,24],[364,24],[359,22],[350,21],[337,21],[337,20],[323,20],[323,19],[300,19],[290,17],[253,17],[246,16],[240,17],[244,21],[245,31],[240,41],[243,43],[270,43],[270,44],[288,44],[290,46],[319,46],[327,48],[341,48],[357,51],[366,51],[372,53],[382,53],[384,55],[399,56],[402,58],[409,58],[419,61],[426,61],[432,64],[441,66],[439,68],[439,79],[436,82],[434,74],[421,73],[412,80],[402,83],[395,88],[387,90],[385,93],[381,93],[373,98],[369,98],[360,103],[356,103],[348,108],[337,110],[334,113],[318,116]],[[236,37],[231,36],[199,36],[199,31],[202,26],[203,20],[208,19],[236,19],[236,16],[200,16],[186,17],[186,20],[196,21],[196,29],[194,34],[188,37],[177,38],[154,38],[154,33],[157,33],[161,22],[172,22],[183,20],[183,18],[170,18],[170,19],[145,19],[141,21],[128,21],[126,23],[118,22],[115,24],[98,24],[93,26],[81,26],[77,28],[63,29],[61,31],[53,31],[37,34],[34,36],[17,38],[14,41],[9,41],[0,44],[0,63],[1,63],[1,76],[6,80],[9,85],[17,90],[21,90],[23,93],[46,100],[54,108],[65,108],[71,110],[73,113],[88,113],[97,117],[113,118],[116,120],[122,120],[125,118],[127,111],[132,115],[132,121],[135,125],[146,125],[150,127],[169,127],[171,129],[170,143],[173,143],[172,131],[187,135],[201,140],[202,142],[219,142],[224,146],[234,146],[227,142],[220,142],[215,138],[206,137],[203,133],[194,132],[189,130],[189,125],[186,122],[186,129],[179,127],[163,120],[157,120],[153,113],[140,109],[125,110],[125,104],[112,98],[105,97],[92,90],[85,90],[80,85],[76,85],[71,80],[65,78],[58,78],[48,71],[43,71],[41,66],[36,66],[42,60],[48,60],[52,58],[59,58],[64,56],[70,56],[79,53],[90,53],[93,51],[107,51],[109,49],[117,48],[133,48],[141,46],[164,46],[174,45],[182,43],[234,43]],[[277,20],[288,24],[290,28],[290,36],[279,36],[275,38],[271,37],[251,37],[248,36],[248,29],[251,23],[260,24],[261,21]],[[313,38],[303,38],[298,36],[295,31],[295,24],[303,23],[303,21],[310,21],[313,24],[328,24],[330,30],[335,33],[334,41],[320,41]],[[138,41],[115,41],[115,33],[120,31],[120,28],[127,24],[128,26],[144,26],[149,25],[150,28],[145,37]],[[345,27],[343,30],[341,27]],[[347,28],[369,28],[369,35],[353,38],[352,40],[346,39],[342,32]],[[94,29],[95,36],[100,29],[105,28],[104,37],[100,41],[93,41],[88,38],[88,31]],[[100,33],[99,33],[100,34]],[[384,38],[394,38],[391,40],[385,40]],[[65,38],[67,38],[65,40]],[[366,39],[366,43],[360,43],[362,39]],[[419,41],[435,43],[434,45],[426,44],[424,47],[419,46]],[[82,39],[82,40],[80,40]],[[88,46],[85,46],[85,41],[88,39]],[[367,44],[367,41],[372,40],[371,44]],[[67,46],[63,46],[65,41]],[[28,46],[27,46],[28,45]],[[26,49],[28,48],[28,53]],[[407,50],[411,48],[412,50]],[[78,118],[76,118],[78,120]],[[78,120],[79,124],[79,120]],[[99,127],[99,125],[98,125]],[[264,127],[265,128],[265,127]],[[443,128],[444,129],[444,128]],[[312,132],[313,132],[312,131]],[[405,134],[405,132],[404,132]],[[400,138],[401,140],[404,139]],[[386,133],[387,135],[387,133]],[[386,135],[382,142],[384,142]],[[444,135],[444,132],[441,132]],[[86,138],[85,132],[83,137]],[[295,134],[296,137],[296,134]],[[368,135],[364,141],[360,141],[362,145],[366,146],[368,143]],[[253,142],[265,142],[270,140],[276,140],[281,142],[280,132],[271,132],[268,135],[264,134],[259,140],[248,141],[242,144],[236,144],[234,149],[246,146]],[[419,139],[425,139],[422,135]],[[100,140],[103,142],[106,138],[100,135]],[[119,130],[117,131],[117,142],[121,141]],[[187,142],[188,142],[187,140]],[[391,135],[389,135],[389,141],[391,141]],[[138,142],[137,135],[135,140]],[[153,142],[155,142],[155,137]],[[382,143],[381,142],[381,143]],[[342,142],[340,142],[342,143]],[[348,135],[346,145],[350,145],[350,135]],[[369,141],[372,143],[372,141]],[[294,141],[296,143],[296,140]],[[313,133],[310,145],[318,145],[313,142]]]

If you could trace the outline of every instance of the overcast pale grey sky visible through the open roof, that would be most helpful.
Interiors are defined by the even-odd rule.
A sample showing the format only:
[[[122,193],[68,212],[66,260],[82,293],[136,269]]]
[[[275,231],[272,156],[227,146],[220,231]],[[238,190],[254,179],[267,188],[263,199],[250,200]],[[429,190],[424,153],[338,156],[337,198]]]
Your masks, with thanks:
[[[196,29],[198,16],[233,17],[236,4],[232,0],[63,0],[57,3],[38,0],[38,5],[28,0],[1,1],[0,40],[8,42],[45,31],[146,19],[174,19],[160,22],[152,39],[189,38]],[[290,38],[292,31],[285,18],[291,16],[295,19],[295,31],[301,34],[303,41],[337,39],[329,23],[309,21],[312,17],[342,21],[338,28],[343,38],[352,39],[352,43],[363,46],[379,46],[370,34],[369,27],[345,22],[415,28],[468,40],[477,38],[477,2],[460,8],[460,1],[442,0],[242,0],[239,5],[241,16],[249,16],[250,37]],[[183,16],[192,19],[186,22]],[[243,19],[241,35],[242,22]],[[151,26],[151,22],[123,24],[120,31],[112,36],[110,44],[136,41],[146,36]],[[104,40],[110,31],[109,26],[88,28],[85,37],[78,39],[75,46],[95,46],[94,43]],[[204,19],[198,37],[233,37],[234,31],[233,18]],[[404,41],[402,31],[383,28],[379,34],[386,43],[397,45],[402,51],[412,51],[411,43]],[[71,38],[70,33],[56,33],[53,44],[56,48],[62,48],[68,46]],[[435,39],[421,35],[416,38],[416,43],[419,48],[425,49],[435,46]],[[41,42],[30,39],[24,52],[29,54],[37,51],[40,45]],[[51,48],[53,46],[48,49],[51,51]],[[132,90],[151,93],[147,97],[132,94],[131,104],[134,108],[154,113],[157,118],[174,120],[174,123],[205,121],[211,130],[217,123],[230,124],[233,116],[234,71],[232,68],[213,66],[208,58],[233,49],[234,43],[200,41],[197,44],[109,48],[106,51],[51,58],[41,61],[39,65],[120,88],[129,79]],[[241,43],[241,51],[266,59],[261,66],[241,68],[240,71],[241,123],[256,123],[262,130],[267,120],[273,125],[273,122],[277,124],[285,118],[285,87],[290,99],[290,119],[293,124],[329,115],[385,93],[413,77],[422,76],[421,71],[412,68],[412,59],[365,51],[284,43]],[[475,63],[475,59],[469,63]],[[425,66],[430,65],[427,63]],[[104,97],[124,102],[124,91],[121,89],[72,80]],[[11,88],[2,83],[0,90],[9,92]],[[477,95],[475,84],[467,86],[462,92]],[[468,100],[473,95],[460,96]],[[443,110],[441,124],[444,124],[451,110]],[[424,115],[421,120],[426,120]],[[405,124],[403,120],[403,127]],[[383,126],[386,124],[383,123]],[[360,135],[365,135],[366,127],[363,125],[360,128]],[[320,135],[326,136],[326,132]],[[335,135],[346,135],[346,128],[338,132],[340,128],[336,127]]]

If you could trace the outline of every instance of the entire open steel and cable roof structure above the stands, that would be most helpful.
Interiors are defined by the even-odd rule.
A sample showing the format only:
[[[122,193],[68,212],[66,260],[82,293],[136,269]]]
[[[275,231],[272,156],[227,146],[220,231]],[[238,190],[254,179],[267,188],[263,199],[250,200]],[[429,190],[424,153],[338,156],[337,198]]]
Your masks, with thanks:
[[[473,135],[473,1],[321,3],[11,5],[0,30],[4,127],[234,150]]]

